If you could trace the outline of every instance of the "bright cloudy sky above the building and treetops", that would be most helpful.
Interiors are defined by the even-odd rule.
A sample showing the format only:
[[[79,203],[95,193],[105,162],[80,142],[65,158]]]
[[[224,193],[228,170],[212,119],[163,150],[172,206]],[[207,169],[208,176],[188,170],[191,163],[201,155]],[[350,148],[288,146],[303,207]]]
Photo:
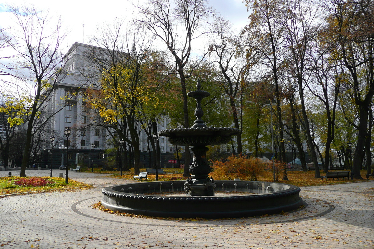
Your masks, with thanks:
[[[142,3],[144,0],[133,0]],[[0,28],[11,25],[5,12],[9,1],[0,0]],[[83,1],[83,0],[12,0],[12,5],[23,6],[34,4],[36,9],[49,9],[50,13],[61,15],[68,36],[65,46],[74,42],[88,43],[89,37],[95,34],[96,27],[104,22],[111,23],[114,18],[131,20],[137,10],[127,0]],[[209,4],[229,19],[238,30],[245,26],[248,13],[242,0],[210,0]],[[84,27],[84,28],[83,28]]]

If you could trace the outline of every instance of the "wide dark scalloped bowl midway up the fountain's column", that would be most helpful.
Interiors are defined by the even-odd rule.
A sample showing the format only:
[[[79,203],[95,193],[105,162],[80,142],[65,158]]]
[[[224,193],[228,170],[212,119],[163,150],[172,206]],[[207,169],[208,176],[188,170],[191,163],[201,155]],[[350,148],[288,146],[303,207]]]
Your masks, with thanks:
[[[180,146],[207,146],[226,144],[239,129],[227,127],[175,128],[159,131],[159,136],[169,137],[169,142]]]

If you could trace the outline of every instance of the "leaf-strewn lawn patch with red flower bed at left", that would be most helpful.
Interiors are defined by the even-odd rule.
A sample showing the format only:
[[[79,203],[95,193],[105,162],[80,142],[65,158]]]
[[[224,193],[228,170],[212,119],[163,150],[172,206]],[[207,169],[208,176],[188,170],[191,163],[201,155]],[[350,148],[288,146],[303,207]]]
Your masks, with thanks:
[[[91,187],[92,185],[90,184],[80,183],[71,179],[66,184],[63,177],[0,177],[0,195],[35,191],[68,191]]]

